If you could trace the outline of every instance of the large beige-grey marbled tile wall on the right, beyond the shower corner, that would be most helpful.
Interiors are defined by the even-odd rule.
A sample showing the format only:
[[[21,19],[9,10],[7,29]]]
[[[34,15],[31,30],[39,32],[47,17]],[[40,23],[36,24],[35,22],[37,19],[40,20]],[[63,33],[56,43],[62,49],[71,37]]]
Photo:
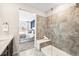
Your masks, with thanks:
[[[52,16],[51,39],[53,46],[79,55],[79,7],[70,7]]]

